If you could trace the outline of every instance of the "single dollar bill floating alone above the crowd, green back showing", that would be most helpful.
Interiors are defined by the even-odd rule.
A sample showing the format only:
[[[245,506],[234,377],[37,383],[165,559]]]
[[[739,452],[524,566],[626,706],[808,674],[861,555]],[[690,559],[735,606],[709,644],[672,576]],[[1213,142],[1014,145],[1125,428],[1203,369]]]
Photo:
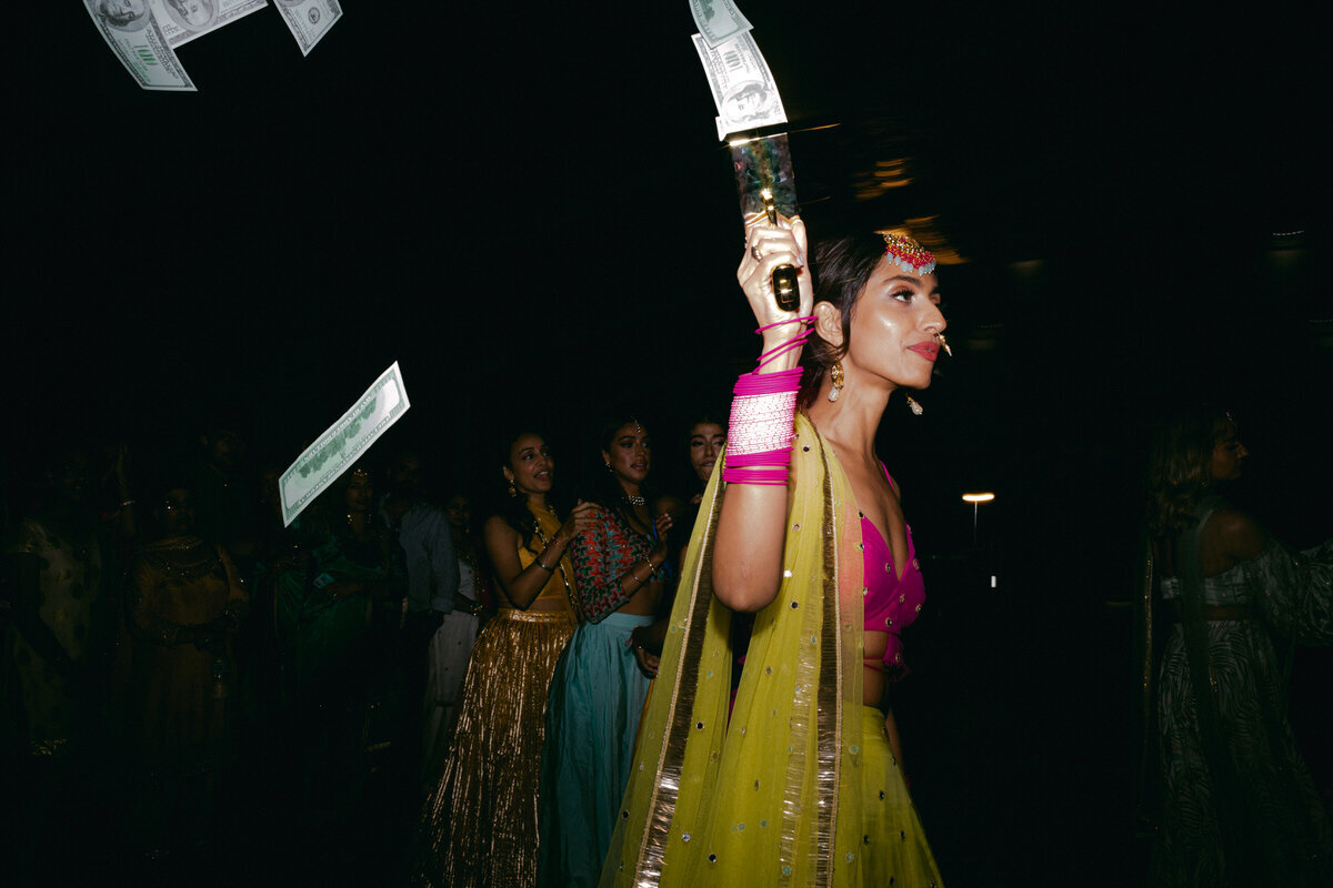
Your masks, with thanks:
[[[277,479],[283,526],[291,525],[325,487],[351,469],[411,406],[395,361]]]

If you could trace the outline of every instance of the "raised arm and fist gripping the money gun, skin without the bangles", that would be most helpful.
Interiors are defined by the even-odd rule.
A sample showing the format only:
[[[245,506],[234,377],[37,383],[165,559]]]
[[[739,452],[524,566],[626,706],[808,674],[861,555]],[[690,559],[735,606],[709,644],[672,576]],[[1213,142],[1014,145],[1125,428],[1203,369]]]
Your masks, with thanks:
[[[806,238],[801,220],[788,224],[778,221],[773,228],[756,224],[745,241],[736,277],[749,300],[754,320],[764,337],[764,353],[780,349],[802,332],[800,317],[813,308],[810,270],[805,261]],[[794,265],[798,270],[801,305],[797,312],[782,312],[773,298],[772,274],[778,265]],[[778,326],[770,326],[778,325]],[[801,349],[792,347],[777,354],[756,373],[770,374],[794,371],[800,367]],[[738,439],[740,418],[732,406],[728,431],[728,465],[733,462],[733,442]],[[792,429],[788,429],[788,434]],[[757,466],[760,471],[780,470],[781,466]],[[728,479],[729,481],[729,479]],[[717,519],[717,538],[713,550],[713,590],[717,598],[737,611],[757,611],[777,596],[782,574],[782,545],[786,534],[785,483],[728,483]]]

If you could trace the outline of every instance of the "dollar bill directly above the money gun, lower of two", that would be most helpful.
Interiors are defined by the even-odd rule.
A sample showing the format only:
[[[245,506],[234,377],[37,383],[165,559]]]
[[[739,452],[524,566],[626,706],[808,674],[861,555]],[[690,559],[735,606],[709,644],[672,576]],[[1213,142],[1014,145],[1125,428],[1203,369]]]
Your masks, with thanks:
[[[730,133],[786,122],[773,72],[748,31],[716,47],[709,47],[701,35],[692,40],[713,89],[718,138],[725,141]]]

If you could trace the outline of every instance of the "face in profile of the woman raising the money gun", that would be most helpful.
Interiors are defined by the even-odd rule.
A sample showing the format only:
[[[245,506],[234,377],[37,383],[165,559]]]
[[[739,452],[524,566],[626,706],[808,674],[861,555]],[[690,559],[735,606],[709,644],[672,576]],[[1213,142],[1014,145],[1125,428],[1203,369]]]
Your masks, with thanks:
[[[896,386],[924,389],[940,353],[934,274],[912,274],[885,260],[874,266],[852,309],[852,338],[842,361]]]

